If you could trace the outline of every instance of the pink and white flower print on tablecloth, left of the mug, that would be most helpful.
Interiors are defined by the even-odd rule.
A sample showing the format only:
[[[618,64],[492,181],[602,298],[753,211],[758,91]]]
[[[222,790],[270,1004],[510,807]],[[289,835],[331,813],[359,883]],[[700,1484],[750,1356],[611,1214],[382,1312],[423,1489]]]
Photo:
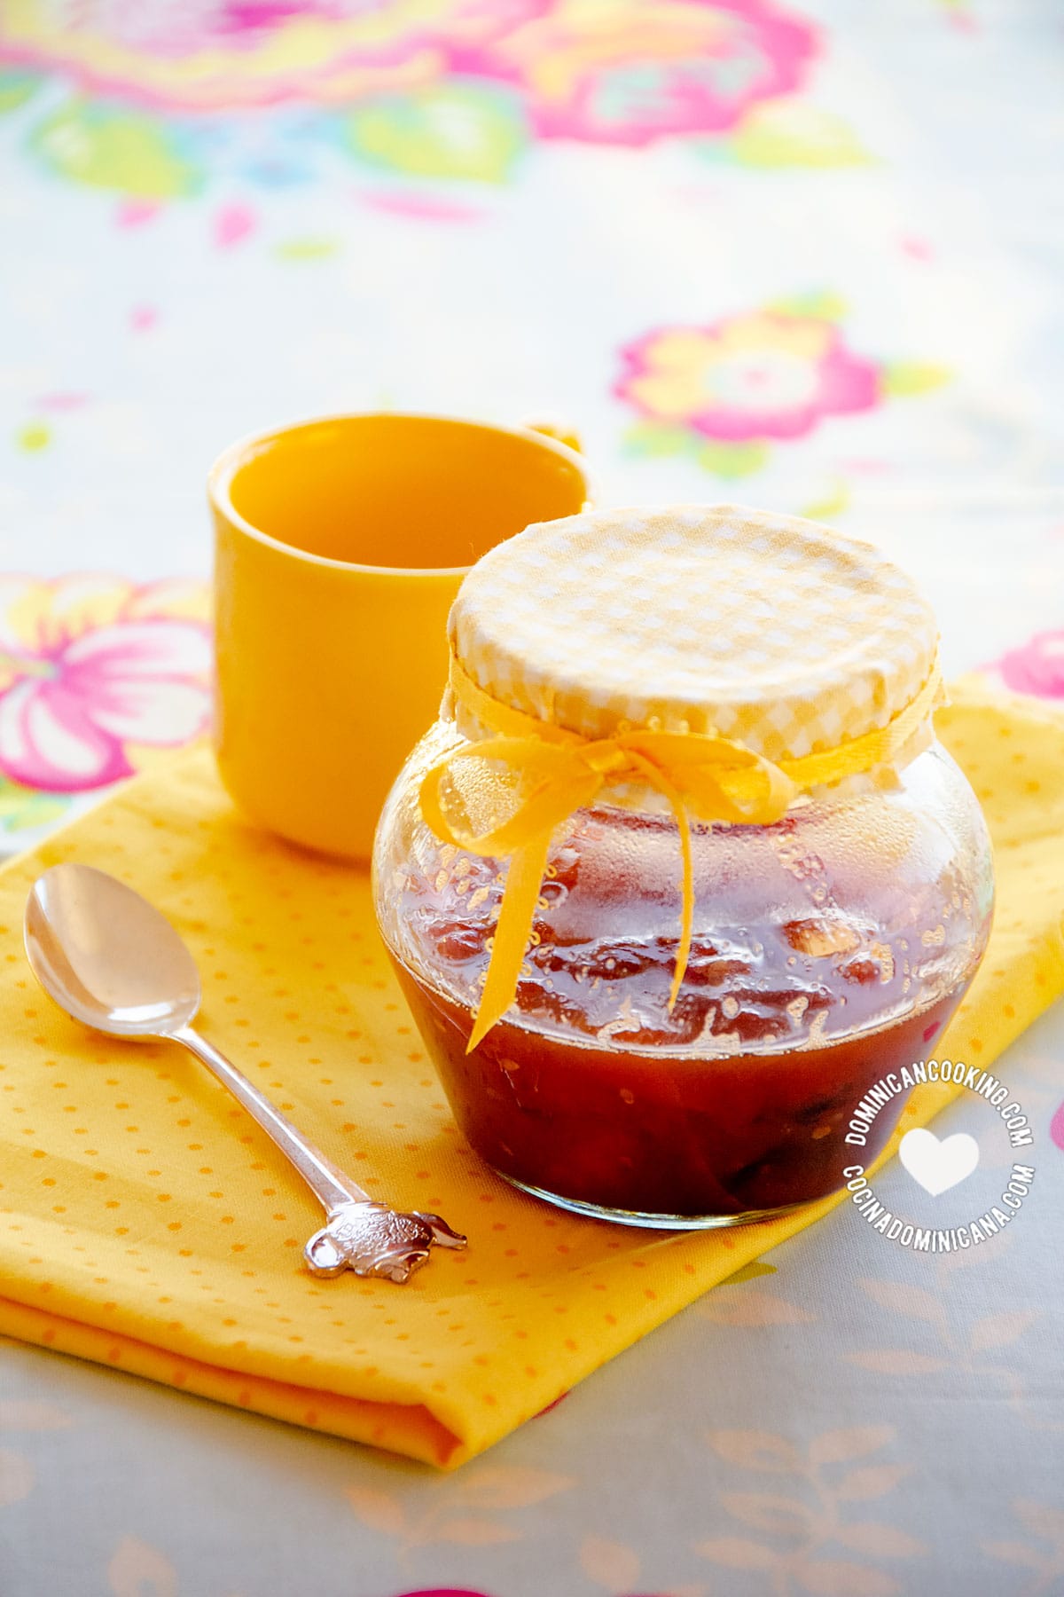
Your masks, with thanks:
[[[0,580],[0,771],[81,792],[129,776],[207,725],[201,588]]]

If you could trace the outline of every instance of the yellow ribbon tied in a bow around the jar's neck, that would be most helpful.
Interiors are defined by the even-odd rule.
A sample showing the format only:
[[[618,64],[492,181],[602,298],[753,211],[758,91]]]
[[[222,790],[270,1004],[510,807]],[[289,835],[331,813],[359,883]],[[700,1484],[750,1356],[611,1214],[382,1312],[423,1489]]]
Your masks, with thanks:
[[[922,727],[941,696],[935,664],[916,698],[887,727],[836,749],[774,765],[745,744],[713,731],[624,728],[609,738],[582,738],[502,704],[477,687],[453,656],[450,687],[456,703],[496,736],[453,749],[428,771],[421,783],[421,813],[443,842],[474,854],[509,858],[491,960],[467,1052],[514,1003],[555,829],[576,810],[592,805],[605,786],[643,783],[668,800],[676,818],[683,880],[680,947],[668,995],[672,1009],[688,969],[694,925],[691,813],[703,821],[769,826],[786,813],[801,791],[887,763]],[[451,767],[466,759],[498,760],[520,778],[522,798],[515,811],[487,832],[477,834],[463,826],[461,803],[456,805],[447,792],[445,779]]]

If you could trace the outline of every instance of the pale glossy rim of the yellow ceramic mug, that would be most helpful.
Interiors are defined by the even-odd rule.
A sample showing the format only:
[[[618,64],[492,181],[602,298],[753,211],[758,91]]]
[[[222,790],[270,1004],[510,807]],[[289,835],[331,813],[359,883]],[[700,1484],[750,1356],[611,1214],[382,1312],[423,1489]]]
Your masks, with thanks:
[[[284,538],[274,538],[273,533],[263,532],[262,527],[255,527],[254,522],[247,521],[246,516],[233,505],[231,482],[241,466],[247,465],[254,458],[254,449],[257,444],[266,444],[284,433],[298,433],[309,426],[329,426],[333,422],[362,422],[362,420],[380,420],[380,418],[399,418],[404,422],[447,422],[451,426],[472,426],[485,433],[501,433],[504,438],[523,438],[530,444],[536,444],[549,452],[566,460],[569,465],[576,466],[584,484],[584,503],[581,509],[587,509],[592,501],[592,479],[587,471],[587,463],[579,450],[571,449],[563,444],[562,439],[552,438],[550,433],[539,433],[534,426],[507,426],[501,422],[480,422],[475,417],[464,415],[442,415],[434,410],[341,410],[332,415],[313,415],[303,422],[287,422],[281,426],[271,426],[257,433],[246,433],[242,438],[234,439],[234,442],[227,444],[220,455],[215,457],[211,470],[207,471],[207,500],[212,509],[219,511],[231,527],[242,532],[246,537],[254,538],[257,543],[263,543],[271,549],[279,549],[282,554],[290,554],[295,559],[308,561],[311,565],[324,565],[330,570],[338,572],[359,572],[359,573],[381,573],[388,577],[464,577],[475,561],[464,565],[367,565],[361,561],[337,561],[329,554],[313,554],[309,549],[300,549],[294,543],[286,543]],[[579,511],[573,511],[579,514]]]

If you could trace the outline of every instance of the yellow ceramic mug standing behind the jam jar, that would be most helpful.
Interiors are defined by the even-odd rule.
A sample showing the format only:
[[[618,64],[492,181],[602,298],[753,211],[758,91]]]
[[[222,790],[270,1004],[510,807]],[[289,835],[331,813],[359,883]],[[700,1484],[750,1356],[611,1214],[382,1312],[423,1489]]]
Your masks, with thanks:
[[[502,538],[581,509],[581,457],[522,428],[346,415],[234,444],[209,493],[222,779],[271,830],[368,858],[439,709],[458,585]]]

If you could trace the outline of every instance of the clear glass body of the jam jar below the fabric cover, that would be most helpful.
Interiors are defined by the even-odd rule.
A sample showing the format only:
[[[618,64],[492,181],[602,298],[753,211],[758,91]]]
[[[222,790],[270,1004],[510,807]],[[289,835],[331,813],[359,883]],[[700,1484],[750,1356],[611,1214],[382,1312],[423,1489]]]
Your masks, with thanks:
[[[991,923],[983,814],[927,719],[890,762],[794,791],[758,824],[678,816],[662,784],[621,771],[549,829],[514,1000],[469,1048],[507,859],[442,840],[423,792],[487,749],[482,707],[448,693],[375,851],[384,942],[477,1153],[562,1207],[670,1228],[782,1214],[841,1188],[855,1159],[868,1167],[908,1094],[871,1126],[852,1126],[858,1105],[933,1056]],[[491,765],[490,751],[467,762],[480,779]],[[507,813],[520,778],[507,767],[493,798]],[[482,805],[466,783],[466,810]]]

